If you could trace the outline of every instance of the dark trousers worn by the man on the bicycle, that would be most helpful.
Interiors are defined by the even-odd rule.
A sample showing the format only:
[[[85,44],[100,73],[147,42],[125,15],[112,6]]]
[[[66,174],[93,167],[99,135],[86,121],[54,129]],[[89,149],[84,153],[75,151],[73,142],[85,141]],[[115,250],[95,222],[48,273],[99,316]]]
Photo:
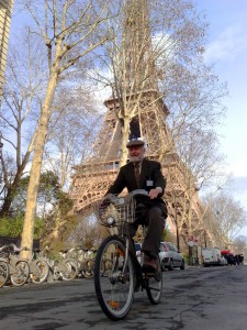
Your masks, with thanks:
[[[146,206],[144,204],[138,204],[136,208],[135,222],[131,223],[130,229],[132,237],[135,235],[139,224],[147,227],[142,251],[155,258],[159,253],[159,245],[162,239],[165,221],[165,213],[159,206]]]

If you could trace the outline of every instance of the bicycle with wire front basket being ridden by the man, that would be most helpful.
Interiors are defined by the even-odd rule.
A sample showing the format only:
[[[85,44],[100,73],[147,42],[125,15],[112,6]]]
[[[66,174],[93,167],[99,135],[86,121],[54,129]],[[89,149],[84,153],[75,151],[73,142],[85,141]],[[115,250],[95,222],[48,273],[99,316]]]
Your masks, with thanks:
[[[161,299],[162,275],[159,257],[157,272],[144,273],[144,256],[142,255],[139,263],[130,235],[130,223],[136,216],[136,202],[146,199],[149,200],[147,193],[141,189],[125,197],[108,195],[97,212],[101,224],[114,231],[101,243],[94,267],[97,298],[102,311],[112,320],[122,320],[127,316],[134,293],[139,288],[146,290],[151,304],[157,305]]]

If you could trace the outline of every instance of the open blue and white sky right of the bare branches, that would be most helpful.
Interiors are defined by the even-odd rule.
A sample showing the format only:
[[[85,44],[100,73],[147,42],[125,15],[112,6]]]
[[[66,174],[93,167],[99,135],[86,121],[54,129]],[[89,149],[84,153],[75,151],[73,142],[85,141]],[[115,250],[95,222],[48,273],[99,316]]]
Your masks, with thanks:
[[[205,59],[214,64],[229,96],[226,118],[218,128],[227,169],[235,178],[234,199],[247,211],[247,1],[194,0],[206,15],[209,44]],[[247,227],[239,234],[247,237]]]

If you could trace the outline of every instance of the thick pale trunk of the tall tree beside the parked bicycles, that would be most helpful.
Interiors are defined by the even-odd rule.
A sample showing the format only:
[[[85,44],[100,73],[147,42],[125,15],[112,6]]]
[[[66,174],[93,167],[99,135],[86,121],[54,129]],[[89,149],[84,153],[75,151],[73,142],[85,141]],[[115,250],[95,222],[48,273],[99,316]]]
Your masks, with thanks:
[[[36,201],[38,193],[38,184],[41,177],[42,160],[44,154],[44,147],[46,142],[48,122],[52,113],[52,103],[57,86],[57,72],[54,69],[50,73],[47,92],[44,100],[41,119],[37,127],[37,134],[35,141],[35,148],[33,155],[33,163],[30,174],[30,183],[26,195],[26,210],[24,218],[24,226],[22,232],[21,246],[26,246],[29,251],[23,251],[23,257],[31,257],[33,248],[33,233],[34,233],[34,221],[36,217]]]

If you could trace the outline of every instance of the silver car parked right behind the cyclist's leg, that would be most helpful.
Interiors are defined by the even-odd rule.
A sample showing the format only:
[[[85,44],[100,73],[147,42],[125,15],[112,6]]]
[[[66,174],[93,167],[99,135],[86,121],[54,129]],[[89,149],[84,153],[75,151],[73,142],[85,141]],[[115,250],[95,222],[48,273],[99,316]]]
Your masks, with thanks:
[[[181,252],[170,242],[160,243],[159,258],[161,264],[161,270],[168,268],[173,271],[173,268],[179,267],[184,270],[184,260]]]

